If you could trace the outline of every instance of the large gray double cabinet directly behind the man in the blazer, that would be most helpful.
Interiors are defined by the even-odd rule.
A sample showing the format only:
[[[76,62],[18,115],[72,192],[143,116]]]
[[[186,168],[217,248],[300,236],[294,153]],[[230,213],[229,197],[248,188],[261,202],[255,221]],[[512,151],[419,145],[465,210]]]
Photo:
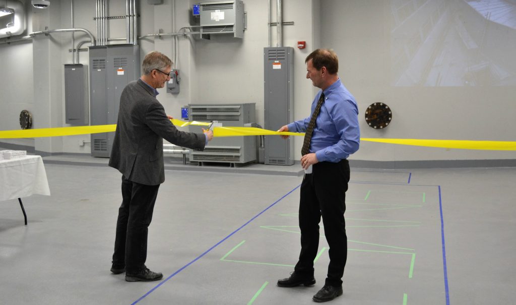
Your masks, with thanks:
[[[140,76],[140,49],[134,44],[90,46],[92,125],[116,124],[120,95]],[[109,157],[114,132],[91,135],[91,155]]]

